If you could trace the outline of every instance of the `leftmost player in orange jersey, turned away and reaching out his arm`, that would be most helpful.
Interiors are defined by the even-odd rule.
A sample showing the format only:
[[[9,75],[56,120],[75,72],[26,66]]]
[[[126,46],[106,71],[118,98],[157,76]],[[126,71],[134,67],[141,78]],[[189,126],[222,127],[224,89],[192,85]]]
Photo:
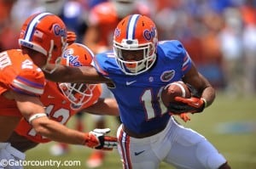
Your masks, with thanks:
[[[46,138],[113,149],[116,138],[104,136],[109,130],[84,133],[68,129],[50,120],[40,101],[45,85],[42,70],[52,73],[60,65],[61,54],[67,47],[67,30],[62,20],[55,14],[33,14],[22,25],[19,44],[21,49],[0,54],[0,159],[25,158],[7,142],[22,118],[32,125],[34,132]],[[104,141],[109,142],[108,145]]]

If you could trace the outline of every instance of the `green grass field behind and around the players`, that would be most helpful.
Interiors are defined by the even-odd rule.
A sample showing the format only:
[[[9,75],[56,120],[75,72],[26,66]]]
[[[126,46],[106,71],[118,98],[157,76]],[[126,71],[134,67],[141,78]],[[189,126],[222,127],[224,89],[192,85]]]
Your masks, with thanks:
[[[229,161],[233,169],[256,168],[256,98],[232,99],[222,93],[211,107],[203,114],[190,115],[191,121],[183,123],[204,135]],[[84,115],[87,130],[92,128],[90,115]],[[73,121],[68,123],[73,127]],[[108,127],[115,134],[117,123],[113,117],[108,116]],[[35,149],[26,152],[26,161],[79,161],[80,166],[60,166],[59,168],[86,168],[85,160],[91,149],[83,146],[70,146],[67,155],[54,157],[49,154],[49,147],[54,143],[41,144]],[[25,169],[57,168],[57,166],[25,166]],[[121,163],[117,150],[107,152],[106,160],[99,169],[120,169]],[[160,169],[172,169],[172,166],[161,164]]]

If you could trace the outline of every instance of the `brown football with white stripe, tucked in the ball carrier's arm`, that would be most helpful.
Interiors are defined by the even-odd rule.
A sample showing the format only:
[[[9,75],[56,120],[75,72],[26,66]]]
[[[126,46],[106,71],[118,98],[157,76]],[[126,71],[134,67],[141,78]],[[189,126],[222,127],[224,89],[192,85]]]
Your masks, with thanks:
[[[167,84],[161,93],[162,102],[166,105],[166,107],[168,107],[170,103],[175,103],[175,97],[177,96],[183,98],[191,97],[189,87],[182,81]]]

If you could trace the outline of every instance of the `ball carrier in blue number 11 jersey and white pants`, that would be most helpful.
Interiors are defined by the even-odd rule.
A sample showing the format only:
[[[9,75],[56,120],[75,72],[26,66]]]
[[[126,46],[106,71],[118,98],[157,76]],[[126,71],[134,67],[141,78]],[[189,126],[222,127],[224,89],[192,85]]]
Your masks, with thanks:
[[[47,76],[61,82],[106,82],[119,104],[119,155],[123,168],[230,169],[223,155],[205,137],[173,119],[175,114],[199,113],[211,105],[215,90],[202,76],[177,40],[158,42],[157,28],[147,16],[131,14],[119,22],[113,52],[97,54],[95,68],[59,67]],[[58,76],[55,76],[58,75]],[[163,87],[183,81],[197,93],[181,104],[164,106]]]

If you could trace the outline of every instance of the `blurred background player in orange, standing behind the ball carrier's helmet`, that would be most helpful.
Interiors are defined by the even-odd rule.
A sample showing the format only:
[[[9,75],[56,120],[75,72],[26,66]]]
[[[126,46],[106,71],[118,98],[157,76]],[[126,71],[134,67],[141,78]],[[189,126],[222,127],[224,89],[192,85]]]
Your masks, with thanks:
[[[113,31],[116,25],[128,14],[149,14],[148,6],[142,1],[135,0],[109,0],[98,3],[91,8],[88,15],[88,28],[84,34],[84,44],[94,54],[99,54],[112,49]],[[113,98],[106,84],[102,84],[102,98]],[[106,121],[103,115],[93,115],[96,127],[105,127]],[[119,122],[119,117],[118,117]],[[92,154],[86,161],[87,166],[101,166],[104,152],[92,150]]]

